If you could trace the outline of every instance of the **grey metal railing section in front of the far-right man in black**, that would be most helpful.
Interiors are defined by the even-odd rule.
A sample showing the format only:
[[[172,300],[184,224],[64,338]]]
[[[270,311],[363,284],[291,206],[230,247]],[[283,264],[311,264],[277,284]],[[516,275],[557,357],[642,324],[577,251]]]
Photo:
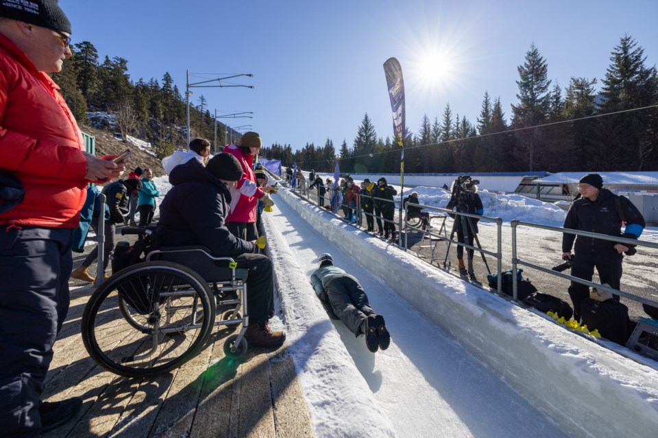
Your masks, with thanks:
[[[551,227],[550,225],[542,225],[542,224],[534,224],[533,222],[522,222],[521,220],[512,220],[510,222],[511,227],[512,227],[512,272],[516,272],[517,266],[528,266],[528,268],[533,268],[536,270],[540,270],[541,272],[546,272],[547,274],[559,276],[563,279],[567,279],[569,281],[574,281],[575,283],[581,283],[582,285],[586,285],[588,287],[596,287],[597,289],[602,289],[607,292],[611,292],[612,294],[617,294],[620,296],[623,296],[624,298],[629,298],[629,300],[634,300],[637,302],[642,302],[643,304],[647,305],[652,305],[654,307],[658,307],[658,301],[653,301],[649,300],[647,298],[644,298],[642,296],[637,296],[634,294],[630,294],[629,292],[624,292],[619,289],[615,289],[614,287],[609,287],[606,285],[600,285],[598,283],[592,283],[592,281],[587,281],[583,279],[579,279],[578,277],[571,276],[569,274],[563,274],[562,272],[557,272],[555,270],[552,270],[550,268],[544,268],[544,266],[539,266],[535,263],[530,263],[528,261],[523,261],[517,257],[517,239],[516,239],[516,229],[519,225],[522,225],[524,227],[532,227],[532,228],[537,228],[537,229],[544,229],[544,230],[549,230],[549,231],[556,231],[558,233],[567,233],[567,234],[574,234],[574,235],[580,235],[583,237],[592,237],[594,239],[599,239],[599,240],[608,240],[610,242],[615,242],[619,244],[630,244],[630,245],[636,245],[636,246],[646,246],[648,248],[658,248],[658,244],[654,242],[646,242],[645,240],[635,240],[635,239],[628,239],[626,237],[616,237],[613,235],[607,235],[607,234],[599,234],[599,233],[592,233],[590,231],[581,231],[581,230],[572,230],[568,228],[559,228],[559,227]],[[517,278],[515,275],[512,276],[512,297],[514,300],[518,299],[518,292],[517,292]]]

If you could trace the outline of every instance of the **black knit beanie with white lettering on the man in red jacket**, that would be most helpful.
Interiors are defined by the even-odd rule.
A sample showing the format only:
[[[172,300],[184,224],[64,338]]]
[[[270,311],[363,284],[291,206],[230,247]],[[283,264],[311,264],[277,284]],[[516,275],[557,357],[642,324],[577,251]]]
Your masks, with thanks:
[[[57,0],[0,0],[0,16],[71,34],[71,22]]]

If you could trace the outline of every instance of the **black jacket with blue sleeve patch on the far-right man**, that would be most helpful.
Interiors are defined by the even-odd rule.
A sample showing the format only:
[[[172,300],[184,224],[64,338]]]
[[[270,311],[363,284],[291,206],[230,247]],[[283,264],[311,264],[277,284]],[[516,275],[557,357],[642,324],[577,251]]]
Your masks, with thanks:
[[[615,201],[617,197],[626,222],[626,232],[624,234],[622,234],[622,219],[619,217]],[[635,205],[628,198],[617,196],[607,189],[601,189],[598,198],[594,202],[589,201],[587,198],[576,199],[564,220],[564,228],[622,236],[629,239],[637,239],[644,227],[644,218],[635,208]],[[576,240],[574,246],[576,251],[611,250],[616,245],[611,240],[592,239],[592,237],[581,235],[576,237],[573,234],[565,233],[562,236],[563,253],[571,251],[574,240]]]

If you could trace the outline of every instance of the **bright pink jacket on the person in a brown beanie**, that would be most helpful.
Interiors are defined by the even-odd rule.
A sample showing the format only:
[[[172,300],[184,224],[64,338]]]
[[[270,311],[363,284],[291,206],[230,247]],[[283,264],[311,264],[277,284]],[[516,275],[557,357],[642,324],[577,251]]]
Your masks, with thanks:
[[[263,197],[263,189],[256,186],[256,175],[252,168],[254,155],[243,154],[240,146],[229,144],[223,153],[230,153],[242,166],[242,179],[231,189],[231,212],[226,222],[256,222],[258,199]]]

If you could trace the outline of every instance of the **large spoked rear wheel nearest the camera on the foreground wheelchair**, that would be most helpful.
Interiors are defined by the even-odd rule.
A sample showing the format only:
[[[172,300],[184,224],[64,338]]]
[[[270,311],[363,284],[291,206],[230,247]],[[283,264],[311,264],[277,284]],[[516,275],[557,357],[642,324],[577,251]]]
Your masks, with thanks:
[[[190,268],[137,263],[112,275],[90,297],[82,314],[82,341],[90,357],[115,374],[169,372],[194,357],[210,337],[216,311],[210,298],[208,285]]]

